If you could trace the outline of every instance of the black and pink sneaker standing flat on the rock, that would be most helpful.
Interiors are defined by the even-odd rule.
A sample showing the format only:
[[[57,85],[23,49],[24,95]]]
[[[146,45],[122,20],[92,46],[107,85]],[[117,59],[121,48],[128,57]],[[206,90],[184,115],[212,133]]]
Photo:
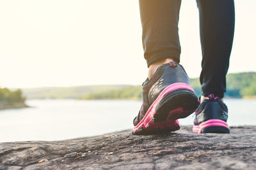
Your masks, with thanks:
[[[195,111],[193,132],[229,134],[228,108],[219,97],[209,95]]]

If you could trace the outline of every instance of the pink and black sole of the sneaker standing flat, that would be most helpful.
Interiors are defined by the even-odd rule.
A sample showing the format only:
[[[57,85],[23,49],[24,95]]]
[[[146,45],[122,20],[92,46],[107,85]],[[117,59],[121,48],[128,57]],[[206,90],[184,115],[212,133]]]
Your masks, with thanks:
[[[228,124],[220,119],[211,119],[202,122],[200,125],[193,126],[193,132],[195,133],[219,133],[229,134],[230,130]]]

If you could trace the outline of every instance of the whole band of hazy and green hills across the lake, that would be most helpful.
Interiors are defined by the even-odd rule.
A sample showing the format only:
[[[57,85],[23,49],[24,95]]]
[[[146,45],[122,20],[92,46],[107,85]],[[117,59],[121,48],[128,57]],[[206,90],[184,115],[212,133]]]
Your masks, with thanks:
[[[200,96],[199,78],[191,78],[191,86]],[[80,87],[44,87],[22,89],[28,99],[141,99],[141,85],[91,85]],[[256,73],[227,75],[226,97],[256,97]]]

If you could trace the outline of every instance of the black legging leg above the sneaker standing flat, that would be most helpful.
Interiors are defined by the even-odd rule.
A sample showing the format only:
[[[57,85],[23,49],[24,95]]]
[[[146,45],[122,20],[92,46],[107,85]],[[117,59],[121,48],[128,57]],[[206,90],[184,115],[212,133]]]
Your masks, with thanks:
[[[202,45],[202,98],[214,94],[223,98],[234,37],[233,0],[197,0]]]

